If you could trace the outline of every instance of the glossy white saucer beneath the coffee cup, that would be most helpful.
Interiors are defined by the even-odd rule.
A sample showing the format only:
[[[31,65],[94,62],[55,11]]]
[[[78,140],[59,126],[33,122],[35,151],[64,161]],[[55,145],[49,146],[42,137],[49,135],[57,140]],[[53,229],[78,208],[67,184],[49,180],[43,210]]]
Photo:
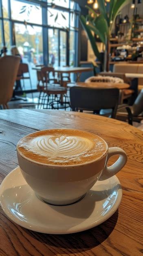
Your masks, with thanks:
[[[1,206],[16,224],[47,234],[70,234],[95,227],[118,209],[122,198],[116,176],[98,181],[79,202],[52,206],[40,201],[16,168],[0,186]]]

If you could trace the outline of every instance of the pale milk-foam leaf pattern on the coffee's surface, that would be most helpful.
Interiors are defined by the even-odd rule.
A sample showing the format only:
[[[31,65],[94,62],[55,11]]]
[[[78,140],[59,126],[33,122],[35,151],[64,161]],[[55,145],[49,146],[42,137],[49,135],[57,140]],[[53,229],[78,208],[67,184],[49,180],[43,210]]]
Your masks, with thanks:
[[[73,159],[91,149],[93,143],[86,138],[72,136],[41,136],[31,140],[29,150],[45,157]],[[55,159],[56,161],[56,159]]]

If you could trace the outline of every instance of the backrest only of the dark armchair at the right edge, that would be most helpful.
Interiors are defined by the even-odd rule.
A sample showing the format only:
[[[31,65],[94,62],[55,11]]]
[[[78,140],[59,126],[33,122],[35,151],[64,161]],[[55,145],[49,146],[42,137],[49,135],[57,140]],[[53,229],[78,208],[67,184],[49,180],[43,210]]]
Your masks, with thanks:
[[[136,98],[134,105],[132,106],[133,116],[137,117],[143,112],[143,89]]]

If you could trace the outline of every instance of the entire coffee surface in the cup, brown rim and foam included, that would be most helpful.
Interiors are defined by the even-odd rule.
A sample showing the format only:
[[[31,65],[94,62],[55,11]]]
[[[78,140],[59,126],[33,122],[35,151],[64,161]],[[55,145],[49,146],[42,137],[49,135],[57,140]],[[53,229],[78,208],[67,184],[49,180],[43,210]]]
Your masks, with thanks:
[[[106,142],[89,132],[72,129],[42,130],[18,142],[23,157],[50,165],[77,165],[101,158]]]

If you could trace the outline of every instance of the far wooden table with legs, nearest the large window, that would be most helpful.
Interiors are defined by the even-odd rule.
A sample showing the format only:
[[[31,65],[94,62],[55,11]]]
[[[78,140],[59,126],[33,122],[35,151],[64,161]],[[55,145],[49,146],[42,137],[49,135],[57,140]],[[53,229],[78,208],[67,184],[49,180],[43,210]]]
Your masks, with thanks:
[[[41,70],[41,67],[33,67],[33,70]],[[59,73],[61,76],[61,85],[63,83],[63,74],[74,73],[76,74],[76,82],[79,82],[80,76],[82,72],[93,71],[92,67],[54,67],[55,72]]]

